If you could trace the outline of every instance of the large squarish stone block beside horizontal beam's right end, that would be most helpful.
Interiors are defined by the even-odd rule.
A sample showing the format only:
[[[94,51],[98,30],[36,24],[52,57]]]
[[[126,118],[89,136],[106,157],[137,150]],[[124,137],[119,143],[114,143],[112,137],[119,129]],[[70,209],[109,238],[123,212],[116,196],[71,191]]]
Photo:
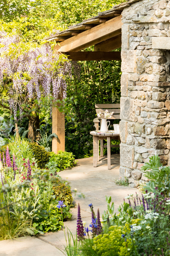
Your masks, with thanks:
[[[136,72],[136,50],[122,50],[121,51],[122,72],[135,73]]]

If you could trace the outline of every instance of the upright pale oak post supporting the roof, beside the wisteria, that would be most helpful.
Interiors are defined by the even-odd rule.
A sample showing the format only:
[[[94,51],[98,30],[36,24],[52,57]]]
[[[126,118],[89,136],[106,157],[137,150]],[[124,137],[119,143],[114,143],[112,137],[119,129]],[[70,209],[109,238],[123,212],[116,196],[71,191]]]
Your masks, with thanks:
[[[57,154],[59,150],[65,151],[65,115],[54,105],[52,118],[52,133],[58,136],[52,139],[52,151]]]

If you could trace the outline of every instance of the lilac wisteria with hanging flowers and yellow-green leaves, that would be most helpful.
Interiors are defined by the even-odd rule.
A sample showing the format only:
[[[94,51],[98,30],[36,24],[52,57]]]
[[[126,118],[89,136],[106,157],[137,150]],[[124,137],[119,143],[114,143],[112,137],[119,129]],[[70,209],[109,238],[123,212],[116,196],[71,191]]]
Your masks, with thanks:
[[[26,47],[15,31],[0,31],[0,44],[0,89],[8,92],[6,98],[0,95],[0,102],[10,107],[15,118],[17,109],[22,116],[22,105],[30,99],[66,97],[65,77],[71,77],[71,63],[64,55],[53,52],[48,43]]]

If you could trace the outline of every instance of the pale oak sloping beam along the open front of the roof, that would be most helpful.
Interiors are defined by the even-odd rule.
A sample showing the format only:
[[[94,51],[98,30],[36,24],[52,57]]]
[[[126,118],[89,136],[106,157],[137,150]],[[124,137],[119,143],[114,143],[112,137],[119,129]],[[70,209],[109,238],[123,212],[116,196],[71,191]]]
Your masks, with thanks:
[[[54,50],[60,52],[78,52],[96,43],[100,43],[113,36],[116,36],[116,32],[120,31],[122,27],[121,18],[121,15],[117,16],[100,25],[90,28],[87,31],[66,39],[65,41],[61,42],[60,46],[55,46]]]

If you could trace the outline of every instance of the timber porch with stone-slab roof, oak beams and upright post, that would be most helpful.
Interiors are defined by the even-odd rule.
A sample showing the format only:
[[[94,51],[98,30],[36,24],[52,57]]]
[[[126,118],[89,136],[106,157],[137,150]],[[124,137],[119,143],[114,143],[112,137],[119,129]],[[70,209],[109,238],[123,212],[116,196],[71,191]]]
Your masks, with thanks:
[[[94,19],[85,20],[81,24],[73,25],[70,29],[46,40],[55,40],[60,43],[54,47],[54,50],[59,54],[66,54],[68,59],[74,61],[121,60],[121,52],[113,52],[114,49],[121,47],[121,13],[114,10],[113,13],[104,13],[104,15],[106,17],[111,15],[111,17],[104,19],[96,16],[97,18],[94,17]],[[93,24],[93,22],[98,23]],[[94,51],[82,51],[89,46],[94,46]],[[58,138],[52,140],[52,151],[57,153],[59,150],[65,150],[65,116],[53,106],[52,117],[52,132],[58,135]]]

